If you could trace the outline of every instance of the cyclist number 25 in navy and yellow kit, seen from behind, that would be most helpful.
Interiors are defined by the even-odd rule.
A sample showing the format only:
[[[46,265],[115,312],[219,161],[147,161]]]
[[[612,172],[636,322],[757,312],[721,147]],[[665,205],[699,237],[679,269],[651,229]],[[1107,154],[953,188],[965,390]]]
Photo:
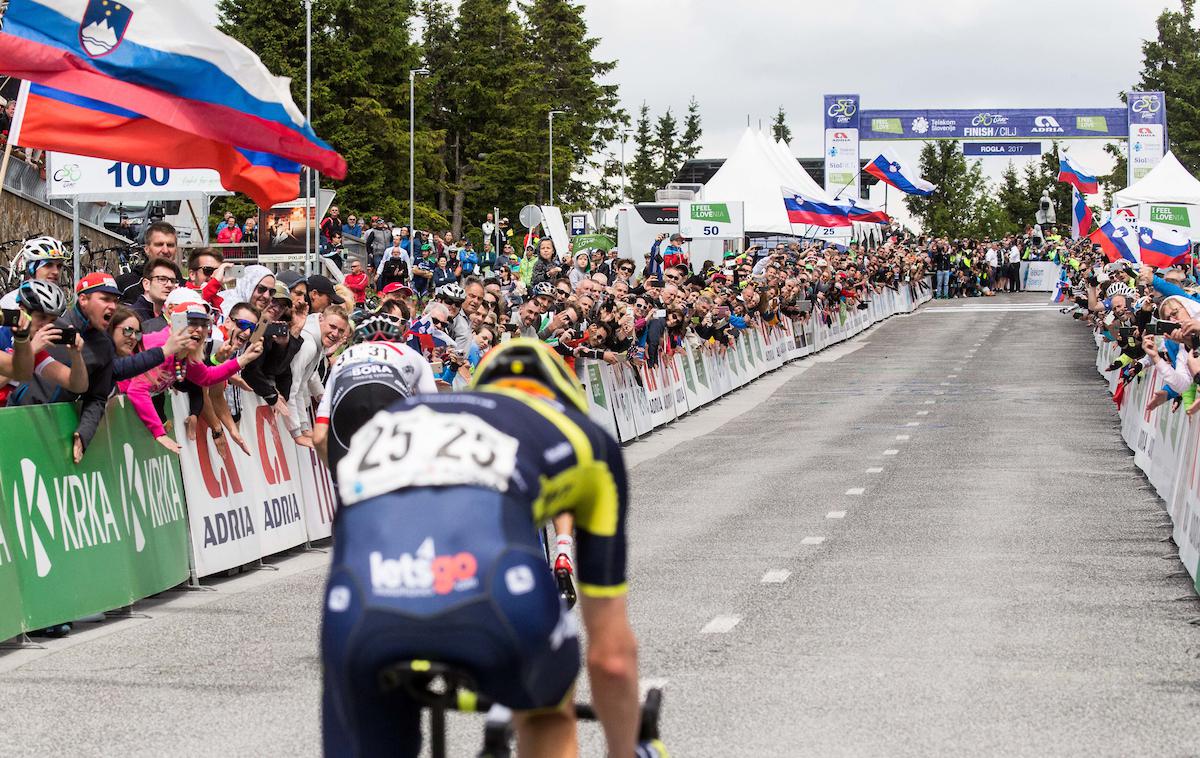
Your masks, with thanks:
[[[593,704],[608,753],[634,754],[624,462],[550,348],[510,341],[480,362],[473,391],[376,414],[338,464],[338,491],[322,632],[328,756],[419,753],[418,705],[376,679],[409,658],[458,667],[517,711],[522,754],[577,753],[564,708],[577,628],[536,537],[562,512],[575,517]]]

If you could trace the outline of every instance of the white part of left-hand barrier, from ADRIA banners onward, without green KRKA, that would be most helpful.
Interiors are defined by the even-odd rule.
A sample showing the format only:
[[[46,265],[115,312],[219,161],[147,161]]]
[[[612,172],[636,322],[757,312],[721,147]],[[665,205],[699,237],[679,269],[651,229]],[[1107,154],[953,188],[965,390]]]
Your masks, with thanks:
[[[718,353],[685,347],[661,353],[659,365],[610,366],[580,361],[592,416],[613,437],[628,441],[671,423],[732,392],[787,361],[853,337],[871,324],[907,313],[930,299],[928,284],[875,295],[866,309],[847,311],[830,326],[810,319],[785,320],[738,335],[734,347]],[[635,375],[636,372],[636,375]],[[334,523],[334,487],[316,453],[296,445],[283,421],[257,397],[242,392],[239,431],[247,455],[226,437],[227,453],[212,441],[208,425],[188,439],[175,425],[180,469],[187,500],[193,582],[251,564],[308,541],[328,537]],[[187,398],[172,392],[173,415],[187,415]]]

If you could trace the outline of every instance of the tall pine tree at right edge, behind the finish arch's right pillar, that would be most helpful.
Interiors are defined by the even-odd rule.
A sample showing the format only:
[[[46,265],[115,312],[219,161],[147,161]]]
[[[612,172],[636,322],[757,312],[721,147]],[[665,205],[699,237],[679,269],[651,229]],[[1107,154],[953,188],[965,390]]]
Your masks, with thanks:
[[[1195,0],[1158,16],[1158,37],[1142,42],[1141,90],[1166,92],[1171,150],[1192,173],[1200,169],[1200,30]]]

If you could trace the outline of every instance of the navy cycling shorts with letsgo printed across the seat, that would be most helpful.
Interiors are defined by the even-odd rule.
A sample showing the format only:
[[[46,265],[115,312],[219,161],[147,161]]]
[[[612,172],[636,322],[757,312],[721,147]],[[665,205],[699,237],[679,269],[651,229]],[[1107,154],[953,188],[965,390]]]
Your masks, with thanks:
[[[343,509],[320,644],[326,756],[412,751],[414,732],[419,746],[416,708],[379,685],[398,661],[460,668],[514,710],[558,706],[580,668],[575,616],[529,504],[478,487],[407,489]]]

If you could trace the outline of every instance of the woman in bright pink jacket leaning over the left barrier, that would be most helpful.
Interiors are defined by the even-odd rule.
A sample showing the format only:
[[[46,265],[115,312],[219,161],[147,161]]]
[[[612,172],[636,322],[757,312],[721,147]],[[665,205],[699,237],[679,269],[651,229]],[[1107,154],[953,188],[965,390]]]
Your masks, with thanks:
[[[120,383],[118,389],[128,395],[134,413],[146,425],[146,429],[150,431],[155,440],[167,450],[179,453],[179,444],[167,435],[158,411],[155,410],[154,396],[166,392],[185,379],[202,387],[226,381],[262,354],[263,343],[262,341],[251,342],[238,357],[232,357],[217,366],[209,366],[204,361],[204,343],[212,323],[209,305],[206,302],[180,302],[169,306],[169,312],[164,315],[168,319],[167,329],[145,335],[143,347],[149,349],[166,344],[173,326],[176,327],[176,331],[182,329],[187,337],[184,347],[179,351],[167,355],[167,359],[158,367]],[[186,325],[179,324],[185,318]]]

